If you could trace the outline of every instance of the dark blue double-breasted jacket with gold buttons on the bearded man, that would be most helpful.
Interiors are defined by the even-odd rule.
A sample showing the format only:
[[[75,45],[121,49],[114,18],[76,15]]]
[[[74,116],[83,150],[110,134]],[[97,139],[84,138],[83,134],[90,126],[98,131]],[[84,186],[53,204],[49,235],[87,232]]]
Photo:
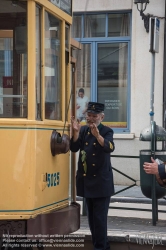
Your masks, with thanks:
[[[113,174],[110,153],[114,151],[113,130],[100,124],[100,135],[104,138],[104,147],[91,134],[88,126],[82,126],[79,138],[70,141],[70,150],[80,150],[76,174],[77,195],[86,198],[111,196],[114,193]],[[87,172],[84,171],[81,151],[86,152]]]

